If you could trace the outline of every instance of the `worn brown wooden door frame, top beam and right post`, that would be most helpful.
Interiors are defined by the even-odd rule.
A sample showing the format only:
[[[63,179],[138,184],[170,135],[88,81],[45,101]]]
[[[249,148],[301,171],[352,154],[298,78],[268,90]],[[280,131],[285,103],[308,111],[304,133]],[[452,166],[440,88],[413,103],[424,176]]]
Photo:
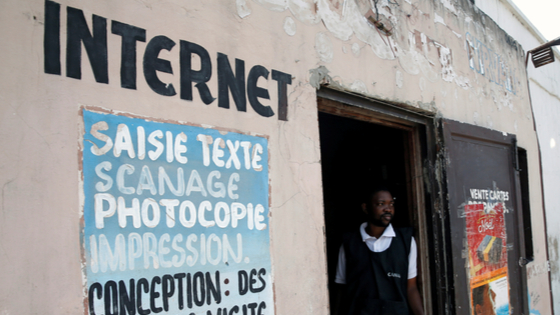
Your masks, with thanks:
[[[322,87],[318,111],[371,122],[407,133],[406,152],[409,200],[416,225],[420,289],[427,313],[447,314],[453,309],[449,220],[443,211],[445,182],[437,163],[438,129],[433,113]],[[421,211],[424,209],[424,211]]]

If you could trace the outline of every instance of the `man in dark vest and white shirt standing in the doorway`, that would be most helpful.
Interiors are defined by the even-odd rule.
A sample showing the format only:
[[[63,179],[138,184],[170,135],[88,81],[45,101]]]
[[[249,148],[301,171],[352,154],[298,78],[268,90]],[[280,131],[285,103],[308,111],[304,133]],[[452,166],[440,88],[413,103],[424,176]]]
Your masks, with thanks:
[[[344,285],[343,315],[423,315],[416,285],[412,228],[393,228],[394,199],[375,189],[362,204],[359,231],[344,236],[335,282]]]

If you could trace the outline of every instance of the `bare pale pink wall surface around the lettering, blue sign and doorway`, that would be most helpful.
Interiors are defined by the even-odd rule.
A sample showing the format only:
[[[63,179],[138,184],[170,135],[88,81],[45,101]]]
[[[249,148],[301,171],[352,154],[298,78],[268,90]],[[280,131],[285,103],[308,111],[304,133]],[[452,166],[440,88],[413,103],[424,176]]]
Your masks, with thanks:
[[[316,88],[320,84],[518,135],[538,169],[521,47],[471,2],[387,1],[385,28],[362,0],[58,1],[61,74],[44,70],[45,2],[0,4],[0,311],[3,314],[82,312],[80,257],[79,110],[95,106],[158,120],[182,121],[265,135],[269,141],[270,239],[277,314],[328,312]],[[107,19],[108,83],[97,83],[85,51],[82,77],[66,75],[66,8]],[[122,37],[111,21],[146,30],[136,42],[136,89],[121,87]],[[387,36],[388,34],[390,36]],[[177,94],[148,86],[142,56],[154,36],[176,43],[158,72]],[[292,76],[287,121],[205,105],[180,96],[180,41],[204,47],[212,62],[208,87],[218,95],[217,53]],[[193,69],[199,61],[193,59]],[[276,111],[277,82],[267,88]],[[169,87],[169,85],[166,85]],[[535,266],[546,263],[540,177],[531,172]],[[548,314],[546,274],[530,278],[533,305]]]

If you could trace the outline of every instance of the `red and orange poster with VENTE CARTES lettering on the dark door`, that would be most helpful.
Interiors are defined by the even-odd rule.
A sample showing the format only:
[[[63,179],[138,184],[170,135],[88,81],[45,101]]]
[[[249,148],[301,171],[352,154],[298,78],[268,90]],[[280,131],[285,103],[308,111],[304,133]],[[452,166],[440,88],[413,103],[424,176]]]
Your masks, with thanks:
[[[475,190],[465,206],[472,314],[509,314],[504,201],[507,192]]]

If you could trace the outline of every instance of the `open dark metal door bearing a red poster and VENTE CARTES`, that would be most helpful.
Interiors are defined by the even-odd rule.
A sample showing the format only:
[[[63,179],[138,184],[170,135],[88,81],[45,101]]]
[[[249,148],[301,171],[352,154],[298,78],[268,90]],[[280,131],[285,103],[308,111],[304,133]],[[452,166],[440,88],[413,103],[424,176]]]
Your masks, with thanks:
[[[456,314],[528,314],[515,135],[443,119]]]

